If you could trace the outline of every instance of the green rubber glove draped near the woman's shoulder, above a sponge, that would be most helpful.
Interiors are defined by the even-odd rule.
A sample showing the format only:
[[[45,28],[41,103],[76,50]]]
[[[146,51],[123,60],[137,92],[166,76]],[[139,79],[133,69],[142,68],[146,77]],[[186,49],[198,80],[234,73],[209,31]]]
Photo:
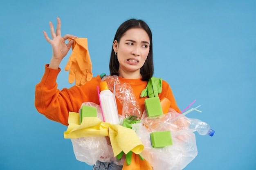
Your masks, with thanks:
[[[151,77],[146,88],[141,91],[140,97],[157,97],[159,93],[162,93],[162,78]]]

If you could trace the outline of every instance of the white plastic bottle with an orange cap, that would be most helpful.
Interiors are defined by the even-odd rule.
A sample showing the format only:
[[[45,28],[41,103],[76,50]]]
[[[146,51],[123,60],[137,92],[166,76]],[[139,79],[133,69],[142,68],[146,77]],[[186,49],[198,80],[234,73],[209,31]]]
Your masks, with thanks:
[[[113,93],[109,90],[106,81],[100,82],[101,93],[99,94],[101,100],[101,108],[104,120],[111,124],[119,124],[119,116]]]

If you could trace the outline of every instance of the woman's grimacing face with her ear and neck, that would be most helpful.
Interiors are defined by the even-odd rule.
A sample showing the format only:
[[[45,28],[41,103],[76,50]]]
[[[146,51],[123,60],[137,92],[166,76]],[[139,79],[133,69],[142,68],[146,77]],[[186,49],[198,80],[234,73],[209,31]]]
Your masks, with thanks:
[[[140,68],[144,65],[149,53],[150,39],[147,32],[141,28],[132,28],[124,33],[119,43],[113,43],[114,51],[119,61],[119,76],[127,75],[141,78]]]

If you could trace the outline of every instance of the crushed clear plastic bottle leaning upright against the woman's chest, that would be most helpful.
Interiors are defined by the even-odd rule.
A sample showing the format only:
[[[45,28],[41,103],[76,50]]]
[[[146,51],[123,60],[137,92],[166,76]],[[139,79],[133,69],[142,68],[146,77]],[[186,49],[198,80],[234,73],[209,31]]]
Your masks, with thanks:
[[[123,105],[122,116],[123,117],[137,117],[137,120],[140,119],[142,115],[141,107],[137,101],[136,96],[133,93],[132,87],[128,83],[120,83],[118,76],[107,75],[103,77],[103,81],[108,83],[108,87],[111,91],[114,91],[115,86],[115,96],[119,102]]]

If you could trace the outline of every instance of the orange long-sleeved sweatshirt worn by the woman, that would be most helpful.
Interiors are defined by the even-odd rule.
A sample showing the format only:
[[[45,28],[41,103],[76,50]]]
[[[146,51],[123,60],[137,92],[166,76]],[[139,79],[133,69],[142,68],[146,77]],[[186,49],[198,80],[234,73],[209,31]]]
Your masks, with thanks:
[[[100,87],[101,78],[98,75],[81,87],[72,86],[69,89],[63,88],[60,91],[56,83],[60,71],[60,68],[56,70],[48,68],[48,65],[45,65],[45,73],[41,81],[36,85],[35,106],[38,112],[45,115],[48,119],[68,126],[67,120],[70,111],[78,113],[83,102],[99,104],[97,86]],[[141,79],[124,79],[121,77],[119,77],[119,81],[131,85],[143,111],[145,109],[144,100],[146,97],[140,97],[140,93],[146,88],[148,82],[142,81]],[[162,81],[162,93],[159,94],[160,99],[163,97],[169,99],[171,101],[171,108],[180,113],[171,88],[164,80]],[[122,105],[118,99],[116,101],[118,113],[121,114]]]

